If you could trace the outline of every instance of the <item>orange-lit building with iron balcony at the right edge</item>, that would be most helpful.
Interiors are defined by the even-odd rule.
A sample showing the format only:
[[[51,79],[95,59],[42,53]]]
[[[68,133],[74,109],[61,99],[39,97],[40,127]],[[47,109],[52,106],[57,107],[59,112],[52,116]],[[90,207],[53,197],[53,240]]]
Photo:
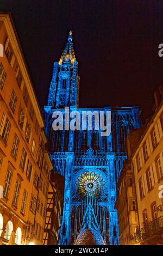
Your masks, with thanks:
[[[160,99],[162,89],[160,87]],[[156,95],[156,94],[155,94]],[[163,97],[162,97],[163,98]],[[135,175],[139,230],[135,241],[142,244],[163,244],[163,105],[158,104],[132,153]]]

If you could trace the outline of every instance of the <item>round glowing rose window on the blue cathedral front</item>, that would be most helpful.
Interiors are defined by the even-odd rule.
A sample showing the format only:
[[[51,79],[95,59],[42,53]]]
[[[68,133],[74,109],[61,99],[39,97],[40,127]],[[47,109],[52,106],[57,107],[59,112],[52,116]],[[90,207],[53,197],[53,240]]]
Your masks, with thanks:
[[[76,181],[77,191],[80,194],[99,195],[103,193],[105,188],[105,181],[103,177],[96,172],[84,172]]]

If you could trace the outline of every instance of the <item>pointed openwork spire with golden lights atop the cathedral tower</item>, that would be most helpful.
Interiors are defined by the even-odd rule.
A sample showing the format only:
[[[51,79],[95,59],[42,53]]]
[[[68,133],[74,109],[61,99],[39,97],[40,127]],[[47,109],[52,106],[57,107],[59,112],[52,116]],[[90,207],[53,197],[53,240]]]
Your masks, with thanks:
[[[61,58],[59,60],[59,65],[62,64],[63,60],[65,62],[71,62],[73,64],[76,61],[76,57],[73,50],[73,43],[72,43],[72,31],[69,32],[68,38],[67,38],[67,44],[65,47],[64,52],[61,55]]]

